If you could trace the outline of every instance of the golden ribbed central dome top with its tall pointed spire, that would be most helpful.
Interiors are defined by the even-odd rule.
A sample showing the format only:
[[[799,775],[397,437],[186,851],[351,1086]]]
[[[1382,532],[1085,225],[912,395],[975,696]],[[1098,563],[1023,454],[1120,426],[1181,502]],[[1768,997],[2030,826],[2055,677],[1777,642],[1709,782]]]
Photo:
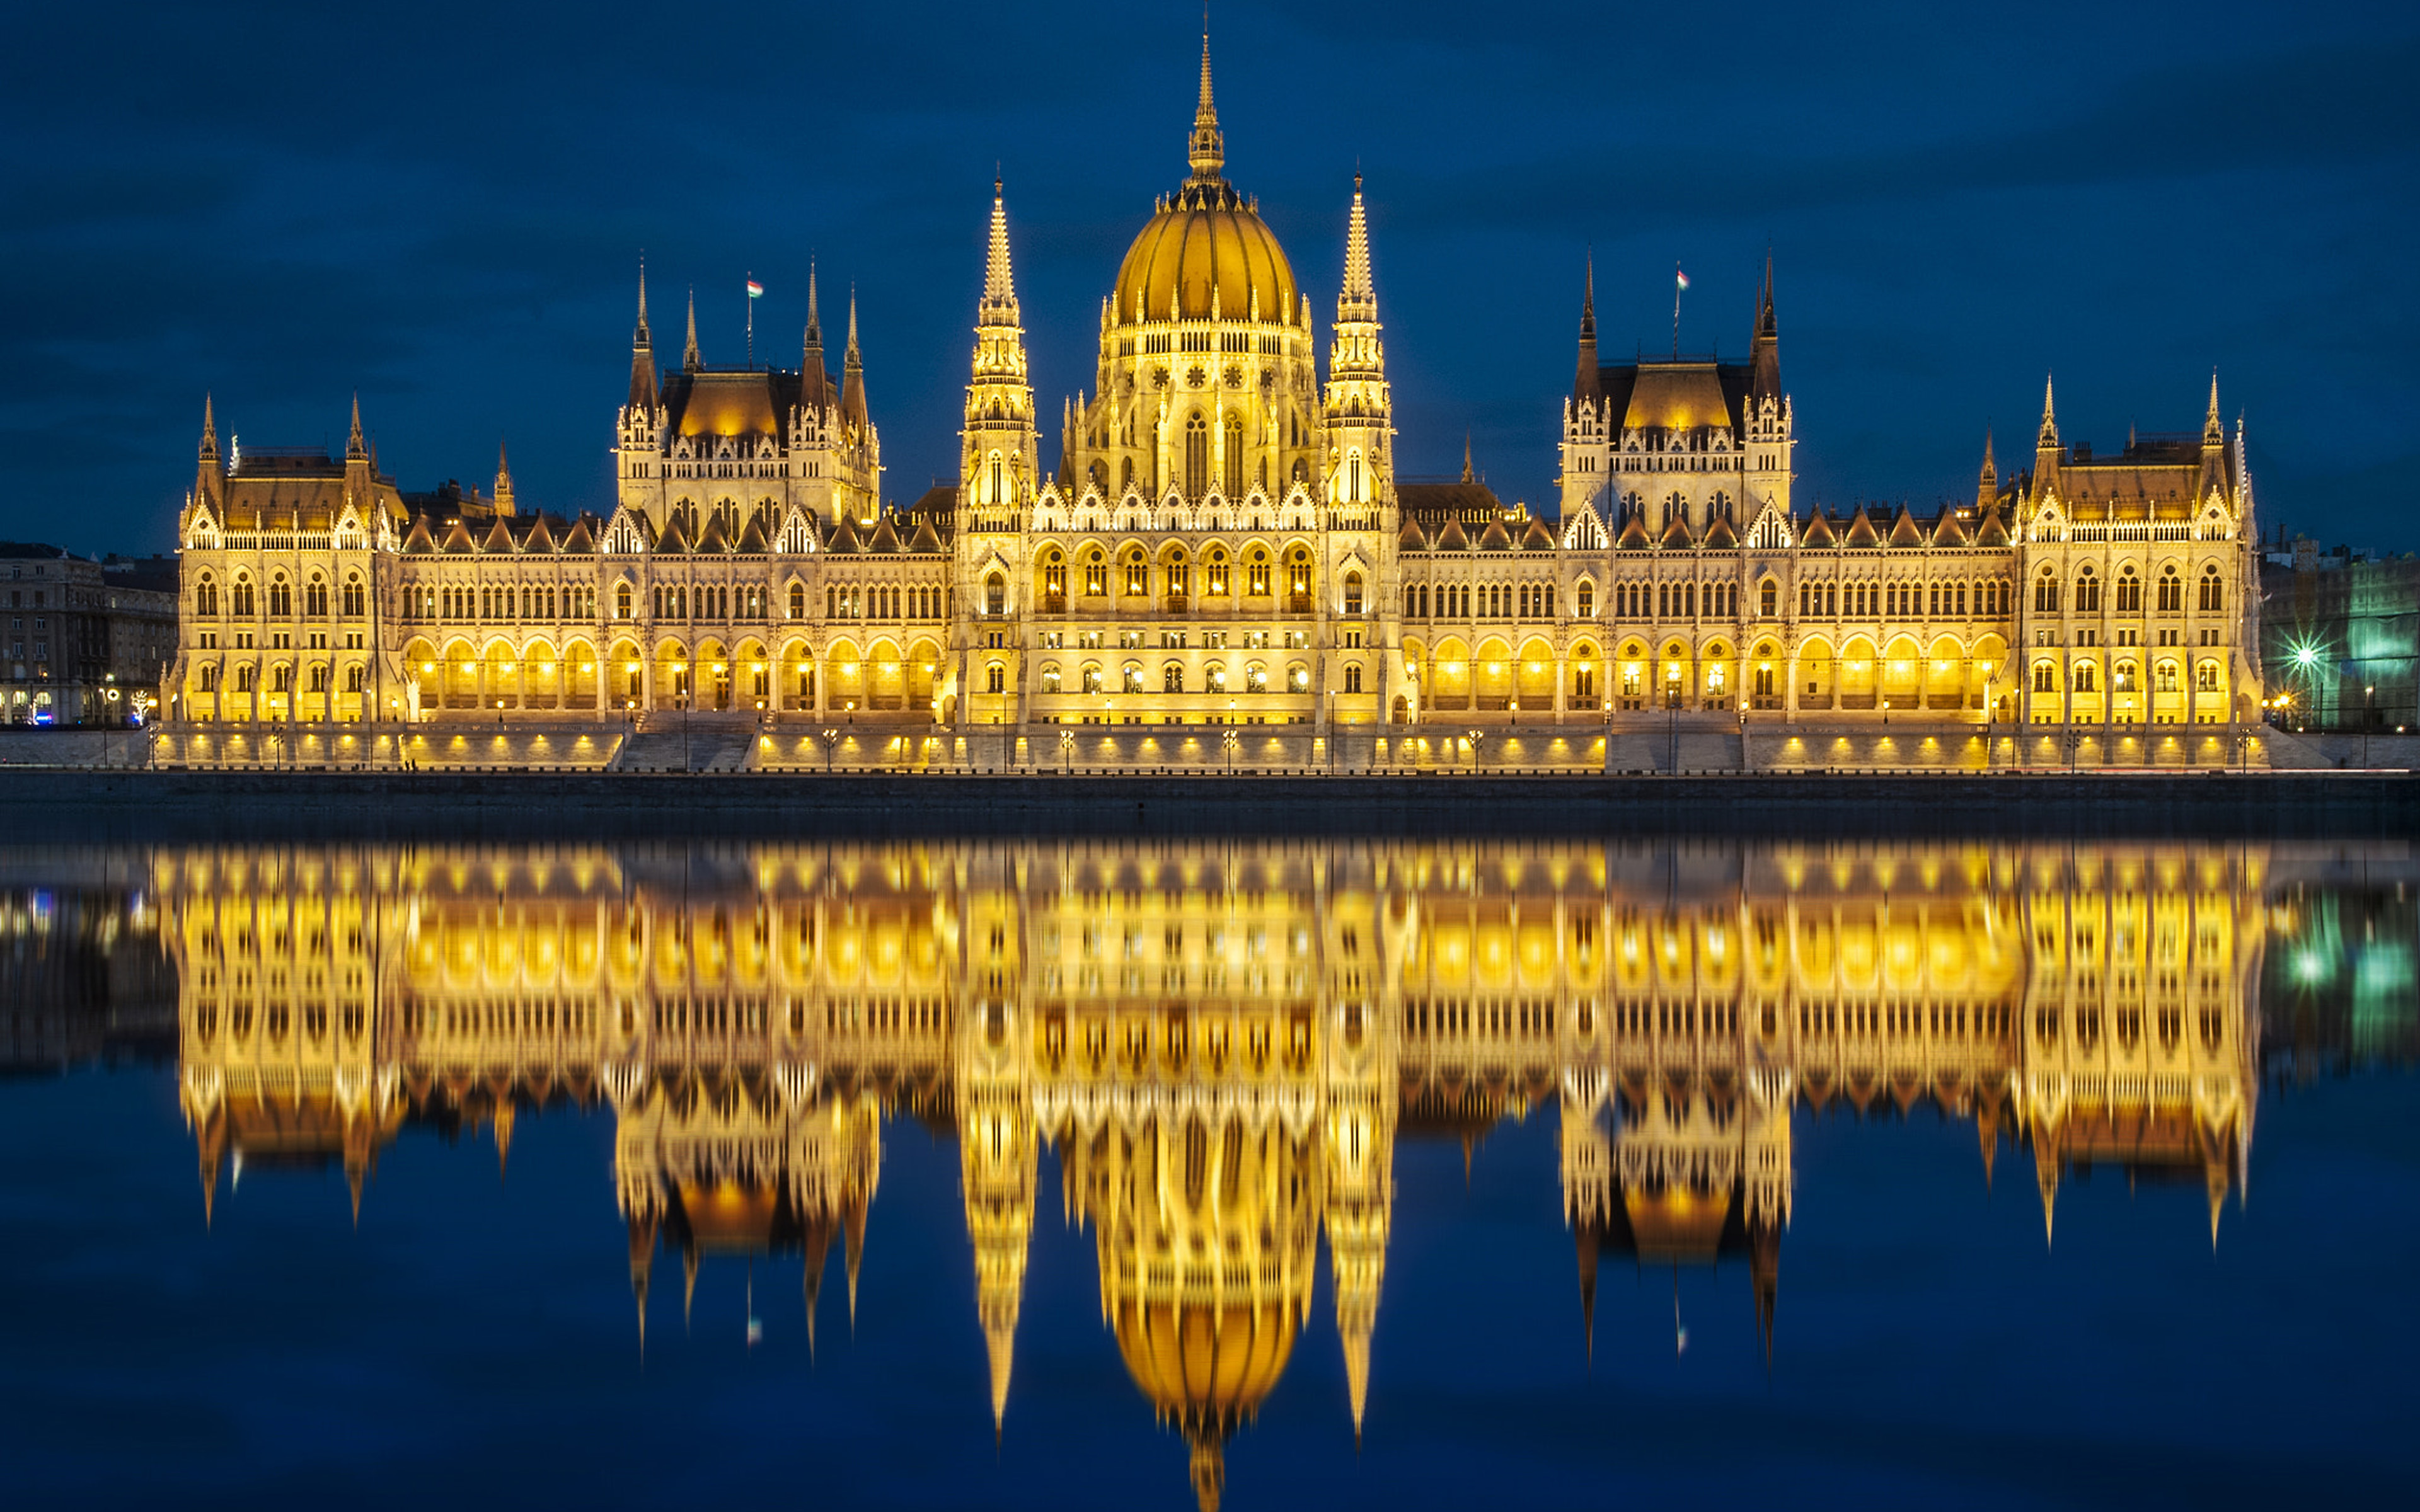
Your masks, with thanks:
[[[1283,324],[1295,312],[1295,269],[1258,208],[1220,177],[1227,145],[1210,104],[1210,39],[1203,39],[1203,87],[1188,143],[1193,177],[1159,201],[1152,223],[1118,264],[1120,324],[1142,319],[1258,319]]]

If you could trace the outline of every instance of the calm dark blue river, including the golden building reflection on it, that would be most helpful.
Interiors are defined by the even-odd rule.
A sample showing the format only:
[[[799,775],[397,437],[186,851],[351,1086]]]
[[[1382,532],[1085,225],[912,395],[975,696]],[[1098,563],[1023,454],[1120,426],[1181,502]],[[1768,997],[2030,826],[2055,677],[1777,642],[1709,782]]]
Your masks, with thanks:
[[[0,849],[12,1505],[2401,1495],[2420,859]]]

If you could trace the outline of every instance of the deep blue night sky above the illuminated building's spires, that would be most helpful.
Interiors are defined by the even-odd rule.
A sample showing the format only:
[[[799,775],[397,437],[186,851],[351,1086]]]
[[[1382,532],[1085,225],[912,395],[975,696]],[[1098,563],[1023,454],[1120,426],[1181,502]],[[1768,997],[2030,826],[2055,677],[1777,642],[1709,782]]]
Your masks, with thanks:
[[[0,535],[172,544],[201,397],[404,489],[607,508],[641,249],[658,356],[796,363],[854,281],[886,496],[956,457],[995,162],[1055,457],[1183,179],[1191,5],[51,5],[0,48]],[[1551,503],[1580,269],[1609,353],[1747,351],[1779,266],[1800,508],[1970,496],[2030,450],[2251,423],[2263,525],[2413,549],[2420,10],[1244,5],[1227,174],[1324,324],[1367,174],[1404,474],[1471,433]]]

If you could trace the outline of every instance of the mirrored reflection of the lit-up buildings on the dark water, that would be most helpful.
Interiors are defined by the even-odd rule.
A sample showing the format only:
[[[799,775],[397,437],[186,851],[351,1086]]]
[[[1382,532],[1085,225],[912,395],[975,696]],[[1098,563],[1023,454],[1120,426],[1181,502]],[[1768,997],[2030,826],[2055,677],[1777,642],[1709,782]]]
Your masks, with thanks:
[[[1399,1139],[1551,1115],[1583,1316],[1609,1256],[1745,1258],[1771,1355],[1800,1108],[1972,1123],[1987,1181],[2004,1144],[2030,1156],[2045,1243],[2088,1166],[2200,1183],[2217,1243],[2263,1072],[2410,1057],[2420,1028],[2413,871],[2376,849],[211,847],[5,868],[46,878],[0,919],[15,1064],[106,1045],[56,1006],[94,994],[167,1048],[145,943],[172,963],[206,1217],[230,1173],[293,1164],[341,1166],[358,1217],[407,1123],[484,1130],[506,1161],[518,1113],[610,1110],[641,1345],[658,1256],[682,1309],[707,1263],[803,1256],[813,1338],[837,1243],[854,1314],[883,1127],[908,1115],[958,1144],[997,1425],[1050,1147],[1203,1507],[1302,1340],[1321,1239],[1360,1432]]]

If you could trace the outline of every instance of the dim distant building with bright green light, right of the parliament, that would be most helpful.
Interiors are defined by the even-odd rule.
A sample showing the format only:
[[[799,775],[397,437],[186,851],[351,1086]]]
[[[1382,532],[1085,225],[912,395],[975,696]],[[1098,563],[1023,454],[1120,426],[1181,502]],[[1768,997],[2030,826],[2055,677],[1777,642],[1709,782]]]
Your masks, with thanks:
[[[2260,660],[2272,716],[2297,731],[2420,726],[2420,559],[2294,537],[2260,566]]]

